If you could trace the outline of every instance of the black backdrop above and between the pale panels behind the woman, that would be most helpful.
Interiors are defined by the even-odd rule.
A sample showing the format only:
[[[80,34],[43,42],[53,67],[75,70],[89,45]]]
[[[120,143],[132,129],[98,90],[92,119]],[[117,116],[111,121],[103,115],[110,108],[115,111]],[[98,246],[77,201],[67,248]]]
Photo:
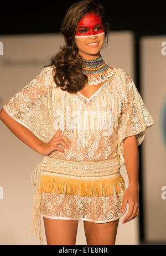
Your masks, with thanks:
[[[22,2],[1,4],[0,37],[3,34],[58,33],[68,8],[78,1]],[[141,54],[139,42],[142,36],[166,35],[166,3],[100,1],[105,7],[106,20],[111,31],[132,31],[134,33],[134,72],[138,91],[141,93]],[[139,240],[146,244],[144,233],[144,200],[142,187],[142,144],[139,146]]]

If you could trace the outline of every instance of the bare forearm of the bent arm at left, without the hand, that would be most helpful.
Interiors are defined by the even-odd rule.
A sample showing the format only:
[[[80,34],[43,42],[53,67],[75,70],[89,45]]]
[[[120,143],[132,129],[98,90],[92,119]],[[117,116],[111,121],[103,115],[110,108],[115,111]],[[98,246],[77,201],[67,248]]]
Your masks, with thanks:
[[[15,121],[10,117],[4,109],[0,112],[1,121],[20,139],[27,144],[30,148],[34,149],[39,154],[42,154],[42,145],[44,142],[38,139],[30,130],[22,124]]]

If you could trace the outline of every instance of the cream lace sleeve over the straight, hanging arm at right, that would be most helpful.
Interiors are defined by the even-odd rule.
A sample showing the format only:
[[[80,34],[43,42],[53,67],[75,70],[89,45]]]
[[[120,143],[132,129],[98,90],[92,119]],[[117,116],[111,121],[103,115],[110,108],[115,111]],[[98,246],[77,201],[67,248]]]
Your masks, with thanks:
[[[125,164],[123,158],[123,139],[136,135],[137,144],[140,145],[147,133],[147,130],[155,123],[143,99],[138,92],[131,77],[121,69],[121,81],[126,91],[127,103],[123,104],[118,124],[118,153],[121,165]]]

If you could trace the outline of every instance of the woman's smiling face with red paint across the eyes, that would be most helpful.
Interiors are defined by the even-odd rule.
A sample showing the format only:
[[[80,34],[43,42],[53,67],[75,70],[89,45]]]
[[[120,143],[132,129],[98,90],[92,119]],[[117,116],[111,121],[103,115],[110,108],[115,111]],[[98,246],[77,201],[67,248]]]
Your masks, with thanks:
[[[100,50],[105,42],[105,30],[102,19],[96,13],[86,13],[80,20],[75,35],[79,54],[85,59],[100,57]]]

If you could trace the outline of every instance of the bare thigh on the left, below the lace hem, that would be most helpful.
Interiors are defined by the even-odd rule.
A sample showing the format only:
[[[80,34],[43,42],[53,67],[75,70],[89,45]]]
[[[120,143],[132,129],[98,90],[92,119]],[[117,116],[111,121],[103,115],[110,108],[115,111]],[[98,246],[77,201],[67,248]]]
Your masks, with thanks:
[[[44,218],[44,228],[47,244],[74,244],[78,220]]]

